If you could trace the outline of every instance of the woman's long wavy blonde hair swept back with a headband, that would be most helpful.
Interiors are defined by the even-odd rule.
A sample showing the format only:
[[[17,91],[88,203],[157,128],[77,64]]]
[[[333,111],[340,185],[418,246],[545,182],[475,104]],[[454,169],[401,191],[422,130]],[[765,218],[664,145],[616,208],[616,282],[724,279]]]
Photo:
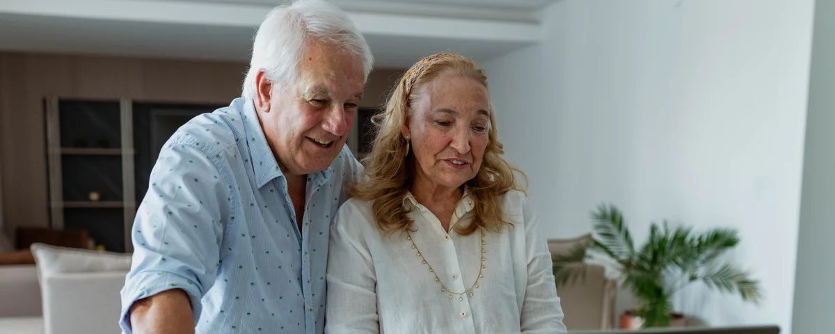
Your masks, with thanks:
[[[488,89],[487,74],[469,58],[453,53],[436,53],[423,58],[403,74],[389,95],[385,111],[372,117],[376,136],[371,152],[362,159],[365,164],[363,177],[360,178],[362,181],[351,190],[352,197],[372,201],[374,219],[383,231],[409,230],[412,227],[403,200],[414,181],[417,161],[414,154],[407,154],[402,128],[407,116],[413,112],[412,105],[417,99],[415,92],[441,73],[473,78]],[[488,112],[488,144],[481,168],[472,180],[466,182],[468,195],[475,204],[468,213],[473,223],[458,228],[457,232],[461,235],[470,235],[478,229],[500,231],[505,224],[509,224],[504,217],[500,197],[509,190],[521,190],[516,184],[515,172],[524,177],[520,170],[503,158],[504,149],[498,141],[492,103]]]

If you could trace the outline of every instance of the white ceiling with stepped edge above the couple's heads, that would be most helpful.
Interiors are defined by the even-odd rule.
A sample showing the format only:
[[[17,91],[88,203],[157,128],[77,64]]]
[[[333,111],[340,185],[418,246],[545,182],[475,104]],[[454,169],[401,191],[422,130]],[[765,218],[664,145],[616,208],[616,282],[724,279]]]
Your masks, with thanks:
[[[0,50],[247,61],[255,29],[263,15],[278,3],[65,1],[0,1]],[[406,68],[438,51],[486,60],[537,43],[540,27],[532,18],[535,8],[549,0],[333,3],[357,23],[372,47],[378,68]],[[472,3],[478,3],[478,8],[466,7]],[[501,18],[503,13],[508,15]]]

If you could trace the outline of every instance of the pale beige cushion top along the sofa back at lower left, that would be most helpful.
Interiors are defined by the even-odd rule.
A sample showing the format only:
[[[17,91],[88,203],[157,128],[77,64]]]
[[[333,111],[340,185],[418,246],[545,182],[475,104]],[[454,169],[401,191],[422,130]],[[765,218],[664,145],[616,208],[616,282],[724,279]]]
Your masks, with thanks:
[[[34,243],[31,246],[38,276],[69,272],[129,271],[130,254],[93,251]]]

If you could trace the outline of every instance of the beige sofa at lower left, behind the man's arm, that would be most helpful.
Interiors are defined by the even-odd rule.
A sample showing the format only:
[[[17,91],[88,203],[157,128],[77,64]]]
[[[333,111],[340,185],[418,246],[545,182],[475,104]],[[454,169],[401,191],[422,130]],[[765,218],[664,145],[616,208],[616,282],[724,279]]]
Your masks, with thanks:
[[[36,266],[0,266],[0,334],[121,332],[119,291],[129,260],[118,260],[117,266],[97,271],[91,270],[89,263],[100,266],[102,261],[113,261],[103,259],[105,256],[114,256],[44,248],[50,249],[41,251],[38,259],[41,281]],[[72,272],[79,270],[83,271]]]

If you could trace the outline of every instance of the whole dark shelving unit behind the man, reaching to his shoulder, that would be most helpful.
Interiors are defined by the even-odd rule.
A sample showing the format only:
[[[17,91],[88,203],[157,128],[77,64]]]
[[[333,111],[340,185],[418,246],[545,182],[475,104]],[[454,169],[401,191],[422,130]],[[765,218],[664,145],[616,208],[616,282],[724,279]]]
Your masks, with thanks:
[[[136,199],[159,148],[188,119],[218,106],[50,97],[44,107],[52,228],[88,230],[106,250],[129,252]]]

